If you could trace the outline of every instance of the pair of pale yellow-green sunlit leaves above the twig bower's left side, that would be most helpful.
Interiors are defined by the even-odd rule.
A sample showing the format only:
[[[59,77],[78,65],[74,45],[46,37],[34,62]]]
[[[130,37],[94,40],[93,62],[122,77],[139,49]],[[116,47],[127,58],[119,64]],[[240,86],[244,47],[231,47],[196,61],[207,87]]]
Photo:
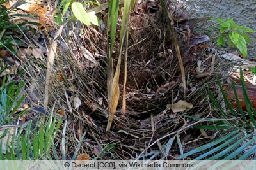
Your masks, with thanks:
[[[80,20],[85,25],[99,25],[99,20],[95,15],[95,12],[86,13],[84,6],[81,3],[74,2],[72,3],[72,12],[74,13],[77,20]]]

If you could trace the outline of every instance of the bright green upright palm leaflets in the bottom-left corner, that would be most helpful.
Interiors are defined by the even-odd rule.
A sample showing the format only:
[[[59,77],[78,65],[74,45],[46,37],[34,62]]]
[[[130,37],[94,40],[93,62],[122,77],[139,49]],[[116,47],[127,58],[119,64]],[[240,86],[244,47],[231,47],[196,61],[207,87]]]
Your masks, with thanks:
[[[32,130],[33,122],[29,121],[26,126],[25,134],[23,133],[24,127],[15,129],[13,136],[8,138],[11,144],[6,147],[5,155],[3,155],[3,150],[1,150],[0,146],[0,158],[12,160],[51,159],[50,149],[60,127],[61,118],[56,120],[54,117],[53,120],[51,120],[51,117],[48,117],[45,121],[44,119],[45,118],[42,118],[42,120],[40,120],[40,127],[36,127],[34,130]]]

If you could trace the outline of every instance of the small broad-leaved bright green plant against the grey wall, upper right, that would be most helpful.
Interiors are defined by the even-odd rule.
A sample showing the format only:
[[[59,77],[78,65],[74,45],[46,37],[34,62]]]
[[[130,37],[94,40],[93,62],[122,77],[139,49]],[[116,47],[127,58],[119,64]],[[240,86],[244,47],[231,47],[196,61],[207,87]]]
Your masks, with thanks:
[[[239,49],[244,57],[247,57],[247,45],[251,43],[251,39],[249,38],[248,34],[243,32],[253,33],[256,32],[253,29],[248,27],[236,25],[234,20],[231,17],[228,17],[228,20],[223,20],[220,18],[211,18],[212,20],[216,20],[220,24],[220,33],[221,36],[217,39],[218,45],[225,45],[224,37],[228,39],[228,45],[231,48],[235,46]]]

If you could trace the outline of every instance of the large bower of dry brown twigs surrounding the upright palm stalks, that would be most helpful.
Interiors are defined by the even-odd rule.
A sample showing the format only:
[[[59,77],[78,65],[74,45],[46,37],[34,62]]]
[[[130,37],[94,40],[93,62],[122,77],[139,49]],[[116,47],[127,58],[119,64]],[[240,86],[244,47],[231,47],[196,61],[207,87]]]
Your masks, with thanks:
[[[139,15],[131,16],[127,62],[127,115],[122,117],[121,106],[118,106],[110,132],[105,132],[108,121],[106,34],[100,34],[96,28],[83,27],[79,23],[67,25],[59,39],[66,46],[58,45],[58,57],[54,66],[56,73],[60,72],[64,79],[52,79],[51,94],[52,101],[60,101],[57,108],[65,110],[69,122],[67,155],[71,157],[76,146],[76,138],[79,139],[78,129],[86,132],[79,153],[86,152],[94,157],[93,150],[96,145],[104,148],[116,143],[115,147],[101,159],[136,159],[142,152],[150,157],[150,152],[157,152],[160,145],[165,145],[169,138],[177,134],[184,143],[184,150],[196,147],[196,141],[189,141],[200,136],[200,132],[191,129],[191,124],[195,125],[198,122],[191,122],[184,116],[204,117],[209,114],[207,99],[204,99],[207,78],[196,79],[193,71],[198,60],[205,61],[205,71],[210,69],[212,58],[207,59],[209,54],[204,47],[195,50],[195,46],[191,45],[196,23],[190,23],[189,39],[177,34],[190,85],[188,88],[197,89],[195,94],[188,96],[188,90],[187,97],[182,97],[184,90],[181,85],[179,64],[170,32],[164,23],[163,15],[159,11],[141,11]],[[179,24],[179,27],[184,25],[186,22]],[[88,50],[87,54],[85,49]],[[117,50],[115,47],[114,53],[117,53]],[[88,58],[89,53],[93,59]],[[121,76],[120,87],[122,82]],[[72,99],[76,95],[82,101],[78,110],[75,110],[72,104]],[[166,104],[175,103],[180,99],[193,103],[193,109],[177,114],[170,111],[163,113]],[[179,154],[179,147],[176,145],[173,146],[173,155],[175,153]],[[161,154],[156,158],[164,156],[172,158]]]

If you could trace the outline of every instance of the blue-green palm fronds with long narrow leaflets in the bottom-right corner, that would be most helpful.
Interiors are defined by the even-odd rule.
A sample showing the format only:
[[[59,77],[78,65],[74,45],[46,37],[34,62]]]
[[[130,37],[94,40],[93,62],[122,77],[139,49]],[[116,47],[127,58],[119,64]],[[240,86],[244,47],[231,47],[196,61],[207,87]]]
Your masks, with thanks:
[[[211,129],[211,130],[219,130],[223,131],[224,135],[220,136],[218,139],[207,143],[203,146],[200,146],[194,150],[191,150],[187,153],[184,153],[178,157],[178,159],[183,159],[184,157],[195,156],[196,153],[199,153],[196,160],[199,159],[207,159],[207,160],[217,160],[217,159],[240,159],[244,160],[250,157],[252,153],[255,152],[255,140],[256,133],[254,129],[256,127],[255,116],[256,111],[253,108],[253,105],[248,97],[246,92],[243,72],[240,69],[241,75],[241,86],[243,90],[244,103],[246,104],[246,110],[248,117],[250,118],[250,122],[248,118],[246,118],[246,114],[242,110],[241,104],[239,103],[239,98],[237,97],[236,87],[234,86],[234,82],[232,82],[232,87],[234,90],[234,96],[236,97],[237,109],[234,109],[230,102],[228,101],[225,92],[222,89],[221,83],[218,80],[218,85],[221,90],[221,94],[223,95],[223,99],[227,104],[229,111],[224,111],[221,108],[218,101],[215,99],[211,90],[208,87],[209,96],[214,103],[213,109],[214,113],[218,114],[218,118],[206,118],[205,122],[208,122],[209,125],[198,125],[196,128],[198,129]],[[202,118],[189,117],[195,120],[200,120]]]

